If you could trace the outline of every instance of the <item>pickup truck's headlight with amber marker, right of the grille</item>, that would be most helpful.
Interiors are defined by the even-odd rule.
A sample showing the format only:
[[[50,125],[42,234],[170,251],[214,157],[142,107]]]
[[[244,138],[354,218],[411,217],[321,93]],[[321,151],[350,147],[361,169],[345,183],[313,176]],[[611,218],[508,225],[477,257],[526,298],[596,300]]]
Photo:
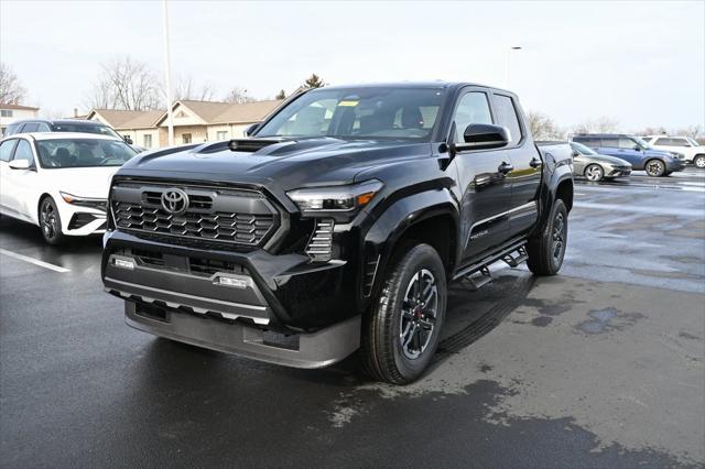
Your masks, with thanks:
[[[372,200],[383,184],[377,179],[349,186],[304,188],[288,192],[304,216],[356,214]]]

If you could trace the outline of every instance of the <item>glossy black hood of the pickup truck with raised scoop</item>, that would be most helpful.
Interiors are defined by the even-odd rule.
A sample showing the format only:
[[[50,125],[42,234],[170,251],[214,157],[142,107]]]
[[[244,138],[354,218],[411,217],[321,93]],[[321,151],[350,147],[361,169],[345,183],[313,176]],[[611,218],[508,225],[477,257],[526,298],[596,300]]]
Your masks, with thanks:
[[[257,143],[258,139],[247,141]],[[289,190],[304,185],[352,183],[356,174],[370,166],[430,154],[430,143],[372,140],[283,140],[257,151],[232,151],[227,142],[219,142],[181,151],[172,149],[143,153],[126,163],[120,175],[262,186],[275,184]]]

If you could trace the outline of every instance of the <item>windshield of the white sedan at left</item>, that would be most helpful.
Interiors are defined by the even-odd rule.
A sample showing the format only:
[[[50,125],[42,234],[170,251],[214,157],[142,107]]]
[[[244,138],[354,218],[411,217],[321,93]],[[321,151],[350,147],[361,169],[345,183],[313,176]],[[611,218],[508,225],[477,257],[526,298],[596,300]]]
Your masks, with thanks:
[[[37,140],[42,167],[121,166],[137,154],[123,141],[107,139]]]

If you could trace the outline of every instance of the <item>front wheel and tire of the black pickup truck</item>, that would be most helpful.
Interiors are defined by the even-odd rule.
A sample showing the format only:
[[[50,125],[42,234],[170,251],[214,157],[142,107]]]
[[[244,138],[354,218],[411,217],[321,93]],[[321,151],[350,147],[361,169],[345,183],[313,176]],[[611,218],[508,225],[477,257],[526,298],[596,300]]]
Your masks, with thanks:
[[[365,318],[360,355],[371,378],[410,383],[426,370],[445,318],[445,266],[429,244],[413,244],[395,257],[382,290]],[[430,290],[429,290],[430,288]],[[419,303],[429,290],[425,303]]]

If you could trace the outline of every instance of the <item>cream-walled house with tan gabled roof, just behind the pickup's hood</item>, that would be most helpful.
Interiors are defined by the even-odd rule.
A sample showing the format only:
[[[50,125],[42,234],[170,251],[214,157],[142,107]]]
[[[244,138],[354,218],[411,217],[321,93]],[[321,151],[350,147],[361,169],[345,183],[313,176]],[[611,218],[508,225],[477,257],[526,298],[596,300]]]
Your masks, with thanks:
[[[172,108],[174,143],[200,143],[239,139],[253,123],[261,122],[283,100],[253,101],[245,103],[181,100]],[[167,144],[167,114],[156,121],[160,143]]]

